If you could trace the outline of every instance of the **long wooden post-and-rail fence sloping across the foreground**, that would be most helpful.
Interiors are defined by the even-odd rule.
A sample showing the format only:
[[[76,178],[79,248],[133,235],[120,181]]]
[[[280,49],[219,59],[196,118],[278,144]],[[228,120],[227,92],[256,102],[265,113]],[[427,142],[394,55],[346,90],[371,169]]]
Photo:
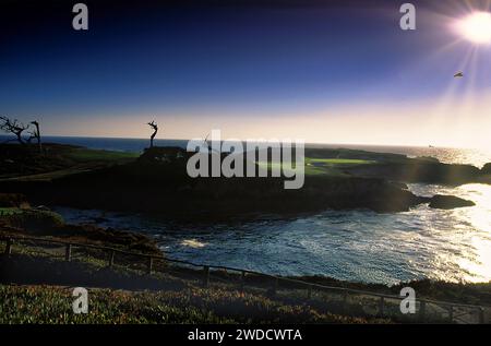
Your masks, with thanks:
[[[343,296],[343,303],[346,305],[348,295],[362,295],[368,296],[372,298],[379,299],[379,315],[385,315],[384,308],[386,307],[386,300],[393,299],[400,301],[405,297],[396,296],[396,295],[388,295],[388,294],[379,294],[374,291],[368,291],[368,290],[360,290],[360,289],[354,289],[354,288],[346,288],[346,287],[336,287],[336,286],[326,286],[315,283],[308,283],[300,279],[289,278],[289,277],[283,277],[261,272],[255,272],[251,270],[244,270],[244,269],[237,269],[237,267],[230,267],[225,265],[213,265],[213,264],[202,264],[202,263],[194,263],[191,261],[183,261],[183,260],[177,260],[177,259],[170,259],[164,255],[155,255],[155,254],[147,254],[147,253],[139,253],[139,252],[132,252],[132,251],[125,251],[112,247],[106,247],[106,246],[96,246],[96,244],[89,244],[89,243],[81,243],[81,242],[73,242],[73,241],[63,241],[63,240],[57,240],[57,239],[47,239],[47,238],[39,238],[39,237],[22,237],[22,236],[3,236],[0,237],[0,241],[5,242],[4,248],[4,254],[11,255],[12,254],[12,246],[14,242],[34,242],[34,243],[48,243],[48,244],[59,244],[64,247],[64,260],[71,261],[72,260],[72,250],[73,248],[82,248],[82,249],[93,249],[93,250],[101,250],[104,252],[107,252],[109,254],[108,256],[108,266],[113,266],[116,261],[116,254],[124,254],[130,256],[136,256],[142,260],[145,260],[146,262],[146,272],[148,274],[152,274],[155,270],[154,262],[156,260],[161,260],[164,262],[170,262],[181,265],[189,265],[192,267],[202,269],[202,283],[205,287],[209,285],[211,281],[211,270],[218,270],[218,271],[226,271],[226,272],[236,272],[239,274],[240,277],[240,286],[241,288],[246,285],[246,276],[247,275],[256,275],[260,277],[266,277],[273,281],[273,285],[271,287],[271,293],[275,294],[278,289],[279,283],[289,283],[295,284],[303,289],[307,290],[307,298],[311,299],[312,291],[313,290],[331,290],[342,294]],[[447,302],[447,301],[440,301],[440,300],[432,300],[432,299],[418,299],[419,302],[419,319],[424,320],[426,311],[428,309],[429,305],[435,305],[443,310],[447,311],[448,321],[450,322],[458,322],[458,323],[465,323],[466,321],[462,319],[465,314],[472,314],[474,312],[477,312],[478,320],[477,323],[486,323],[484,322],[484,307],[482,306],[476,306],[476,305],[465,305],[465,303],[454,303],[454,302]],[[490,307],[486,307],[489,310],[491,310]],[[467,309],[469,311],[459,311],[459,314],[456,314],[455,311],[458,311],[458,309]]]

